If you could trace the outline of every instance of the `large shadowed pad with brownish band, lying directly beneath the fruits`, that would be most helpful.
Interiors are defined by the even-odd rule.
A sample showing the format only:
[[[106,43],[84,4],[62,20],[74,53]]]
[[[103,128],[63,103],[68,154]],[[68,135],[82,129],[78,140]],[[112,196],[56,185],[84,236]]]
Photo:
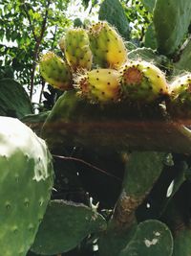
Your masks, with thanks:
[[[68,91],[53,106],[41,135],[53,151],[75,145],[96,151],[191,152],[188,128],[159,118],[153,107],[154,119],[146,115],[141,118],[128,109],[129,105],[122,103],[92,105]],[[144,114],[144,108],[140,110]]]

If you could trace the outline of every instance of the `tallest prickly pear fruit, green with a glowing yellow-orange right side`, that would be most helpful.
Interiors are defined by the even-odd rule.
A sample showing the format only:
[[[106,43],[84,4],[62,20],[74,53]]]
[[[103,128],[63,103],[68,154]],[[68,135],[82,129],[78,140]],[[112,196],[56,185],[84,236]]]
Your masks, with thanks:
[[[123,39],[107,22],[93,25],[89,36],[94,61],[100,67],[117,69],[127,60]]]

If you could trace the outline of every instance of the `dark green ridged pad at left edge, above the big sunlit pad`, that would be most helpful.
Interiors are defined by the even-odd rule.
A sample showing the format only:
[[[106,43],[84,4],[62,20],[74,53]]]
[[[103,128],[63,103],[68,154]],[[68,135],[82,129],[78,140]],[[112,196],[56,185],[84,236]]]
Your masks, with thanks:
[[[0,115],[22,118],[32,114],[30,98],[17,81],[0,80]]]

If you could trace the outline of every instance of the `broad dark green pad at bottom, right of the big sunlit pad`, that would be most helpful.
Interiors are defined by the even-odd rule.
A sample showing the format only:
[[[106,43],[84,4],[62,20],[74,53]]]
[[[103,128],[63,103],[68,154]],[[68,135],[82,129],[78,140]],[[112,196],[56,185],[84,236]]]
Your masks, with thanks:
[[[103,231],[106,221],[83,204],[53,200],[40,224],[32,251],[43,255],[67,252],[91,233]]]

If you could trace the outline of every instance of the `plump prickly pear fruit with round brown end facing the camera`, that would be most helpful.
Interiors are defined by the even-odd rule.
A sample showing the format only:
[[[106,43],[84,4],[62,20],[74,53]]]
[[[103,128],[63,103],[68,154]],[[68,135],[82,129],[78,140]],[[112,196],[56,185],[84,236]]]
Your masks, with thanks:
[[[120,72],[121,93],[130,102],[151,103],[168,94],[168,84],[163,73],[150,62],[130,61]]]

